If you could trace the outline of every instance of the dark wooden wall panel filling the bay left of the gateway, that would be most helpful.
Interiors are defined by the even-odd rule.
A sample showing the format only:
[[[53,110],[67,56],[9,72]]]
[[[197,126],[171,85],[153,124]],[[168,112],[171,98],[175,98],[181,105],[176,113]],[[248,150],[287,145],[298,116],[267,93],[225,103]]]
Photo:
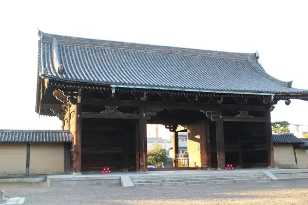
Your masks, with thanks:
[[[87,126],[106,128],[89,130]],[[83,119],[82,171],[111,171],[136,169],[136,122],[116,119]],[[110,130],[108,126],[118,126]]]

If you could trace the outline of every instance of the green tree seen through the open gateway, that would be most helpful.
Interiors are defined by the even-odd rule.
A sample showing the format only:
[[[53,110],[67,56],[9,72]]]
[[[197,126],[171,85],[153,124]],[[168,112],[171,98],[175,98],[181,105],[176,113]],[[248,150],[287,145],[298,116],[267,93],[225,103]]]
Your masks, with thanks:
[[[152,149],[148,151],[148,162],[155,165],[157,168],[161,162],[167,161],[166,150],[163,149],[157,142],[152,143]]]

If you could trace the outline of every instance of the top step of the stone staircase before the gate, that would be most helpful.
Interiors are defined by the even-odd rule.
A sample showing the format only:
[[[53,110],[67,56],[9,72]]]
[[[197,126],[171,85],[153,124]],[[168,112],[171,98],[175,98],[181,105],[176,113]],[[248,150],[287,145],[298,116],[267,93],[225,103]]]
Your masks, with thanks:
[[[130,176],[130,179],[135,180],[156,180],[156,179],[180,179],[180,178],[221,178],[221,177],[253,177],[253,176],[266,176],[264,173],[258,174],[215,174],[215,175],[192,175],[192,174],[182,174],[177,176],[164,176],[164,175],[151,175],[151,176]]]

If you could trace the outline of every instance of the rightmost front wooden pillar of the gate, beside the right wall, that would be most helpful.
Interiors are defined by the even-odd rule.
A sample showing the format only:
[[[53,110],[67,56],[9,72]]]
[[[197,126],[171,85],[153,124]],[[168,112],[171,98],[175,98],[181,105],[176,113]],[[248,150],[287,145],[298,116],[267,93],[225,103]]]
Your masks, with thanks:
[[[274,168],[275,159],[274,159],[274,147],[273,147],[272,121],[271,121],[271,112],[269,110],[265,111],[265,117],[266,117],[265,135],[267,144],[268,168]]]

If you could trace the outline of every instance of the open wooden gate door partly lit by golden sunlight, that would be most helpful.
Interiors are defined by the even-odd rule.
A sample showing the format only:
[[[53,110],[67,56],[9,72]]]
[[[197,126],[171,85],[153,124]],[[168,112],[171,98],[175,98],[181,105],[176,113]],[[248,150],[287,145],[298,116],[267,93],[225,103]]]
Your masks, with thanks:
[[[188,125],[189,167],[207,168],[207,128],[205,120]]]

